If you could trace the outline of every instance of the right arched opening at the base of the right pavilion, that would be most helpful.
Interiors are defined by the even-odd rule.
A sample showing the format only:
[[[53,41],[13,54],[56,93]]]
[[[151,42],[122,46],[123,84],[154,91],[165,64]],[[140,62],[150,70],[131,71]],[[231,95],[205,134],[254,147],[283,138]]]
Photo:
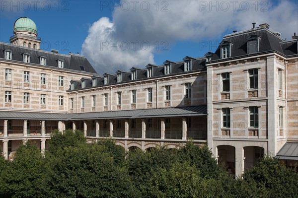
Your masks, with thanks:
[[[264,156],[264,148],[259,146],[245,146],[244,150],[244,171],[252,168]]]

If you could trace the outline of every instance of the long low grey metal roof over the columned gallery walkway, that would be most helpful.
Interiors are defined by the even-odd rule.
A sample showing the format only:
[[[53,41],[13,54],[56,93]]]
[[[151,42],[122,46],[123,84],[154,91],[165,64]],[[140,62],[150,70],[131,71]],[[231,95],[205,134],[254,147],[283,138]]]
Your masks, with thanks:
[[[162,118],[162,117],[181,117],[181,116],[206,116],[207,105],[172,107],[159,109],[138,109],[123,111],[104,111],[90,113],[36,113],[36,112],[12,112],[1,111],[0,119],[8,120],[94,120],[94,119],[135,119],[135,118]]]

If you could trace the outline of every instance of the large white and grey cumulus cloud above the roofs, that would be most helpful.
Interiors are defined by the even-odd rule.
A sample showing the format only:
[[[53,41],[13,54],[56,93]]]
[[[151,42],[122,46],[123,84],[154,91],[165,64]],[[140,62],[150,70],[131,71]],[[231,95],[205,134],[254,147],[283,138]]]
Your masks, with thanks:
[[[154,53],[183,40],[221,40],[224,32],[268,23],[290,39],[298,29],[294,1],[128,1],[114,7],[112,21],[89,28],[82,53],[99,73],[154,64]]]

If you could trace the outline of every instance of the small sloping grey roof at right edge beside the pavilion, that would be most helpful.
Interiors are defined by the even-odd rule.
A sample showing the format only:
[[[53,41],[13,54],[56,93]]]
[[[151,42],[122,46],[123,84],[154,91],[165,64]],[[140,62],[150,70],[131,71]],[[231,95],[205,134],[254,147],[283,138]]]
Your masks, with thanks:
[[[298,160],[298,142],[287,142],[276,154],[276,158]]]

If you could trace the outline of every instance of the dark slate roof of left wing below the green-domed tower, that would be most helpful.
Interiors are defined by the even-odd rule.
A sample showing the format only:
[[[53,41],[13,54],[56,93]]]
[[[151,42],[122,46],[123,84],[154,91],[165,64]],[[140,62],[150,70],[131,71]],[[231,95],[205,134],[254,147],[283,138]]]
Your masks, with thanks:
[[[47,58],[47,65],[45,67],[53,66],[58,68],[57,60],[63,60],[64,69],[96,73],[88,60],[81,55],[64,55],[0,42],[1,59],[4,59],[5,50],[10,50],[12,52],[12,61],[23,62],[23,53],[28,53],[30,55],[30,64],[40,65],[39,57],[44,56]],[[84,66],[84,70],[81,70],[80,66]]]

